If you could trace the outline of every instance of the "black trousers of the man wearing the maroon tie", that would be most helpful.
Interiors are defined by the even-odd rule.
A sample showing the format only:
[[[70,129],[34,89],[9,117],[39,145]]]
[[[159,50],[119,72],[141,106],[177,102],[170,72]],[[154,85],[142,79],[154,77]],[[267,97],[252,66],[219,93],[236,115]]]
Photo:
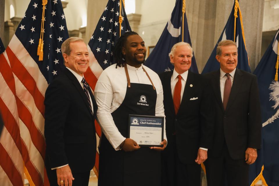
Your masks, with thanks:
[[[245,153],[240,160],[233,160],[230,157],[226,144],[221,155],[217,158],[210,156],[204,162],[208,186],[248,186],[249,165],[245,162]]]

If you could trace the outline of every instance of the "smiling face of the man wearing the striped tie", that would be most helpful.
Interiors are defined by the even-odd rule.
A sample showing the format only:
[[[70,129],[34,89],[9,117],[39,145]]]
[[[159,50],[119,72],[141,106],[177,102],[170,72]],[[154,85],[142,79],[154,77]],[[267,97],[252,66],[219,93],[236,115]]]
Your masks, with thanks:
[[[89,53],[86,44],[82,41],[70,43],[71,53],[63,53],[65,66],[83,76],[89,66]]]

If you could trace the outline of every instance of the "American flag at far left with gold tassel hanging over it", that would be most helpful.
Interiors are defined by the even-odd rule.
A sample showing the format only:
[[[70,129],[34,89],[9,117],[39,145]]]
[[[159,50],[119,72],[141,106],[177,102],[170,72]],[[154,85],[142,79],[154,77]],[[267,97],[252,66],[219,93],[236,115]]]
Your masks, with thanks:
[[[45,6],[44,57],[37,47],[42,22],[42,0],[31,0],[0,63],[0,110],[4,129],[0,138],[0,183],[49,185],[44,168],[44,94],[65,66],[61,44],[69,35],[60,0]]]

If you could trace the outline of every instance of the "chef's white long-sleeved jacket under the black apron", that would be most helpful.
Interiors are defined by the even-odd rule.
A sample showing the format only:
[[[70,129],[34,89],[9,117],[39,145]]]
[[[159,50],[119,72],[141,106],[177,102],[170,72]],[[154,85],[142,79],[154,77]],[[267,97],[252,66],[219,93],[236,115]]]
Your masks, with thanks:
[[[115,150],[119,150],[119,145],[126,138],[121,135],[118,128],[115,126],[111,113],[121,105],[125,98],[127,78],[124,67],[115,67],[116,64],[111,65],[102,72],[95,86],[94,97],[98,105],[97,120],[102,128],[102,132],[105,134],[112,147]],[[142,67],[144,67],[156,88],[157,100],[155,116],[165,117],[163,88],[159,76],[144,65],[139,68],[127,65],[130,82],[151,85]],[[164,139],[167,140],[165,128]]]

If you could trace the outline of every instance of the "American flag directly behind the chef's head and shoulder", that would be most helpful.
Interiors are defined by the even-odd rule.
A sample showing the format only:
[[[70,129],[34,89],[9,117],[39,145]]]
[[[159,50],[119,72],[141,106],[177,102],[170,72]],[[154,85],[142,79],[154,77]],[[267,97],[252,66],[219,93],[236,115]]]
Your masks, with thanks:
[[[87,45],[90,57],[90,64],[87,71],[84,73],[87,83],[94,90],[95,85],[102,71],[108,66],[115,63],[113,59],[113,49],[115,43],[119,39],[119,30],[121,28],[121,35],[127,31],[131,31],[125,10],[122,3],[120,13],[119,0],[109,0],[104,9],[103,14],[95,28],[95,31],[90,38]],[[119,16],[122,16],[123,22],[119,24]],[[95,121],[97,143],[101,136],[101,128]],[[96,151],[96,163],[94,172],[98,176],[99,170],[99,150]]]

